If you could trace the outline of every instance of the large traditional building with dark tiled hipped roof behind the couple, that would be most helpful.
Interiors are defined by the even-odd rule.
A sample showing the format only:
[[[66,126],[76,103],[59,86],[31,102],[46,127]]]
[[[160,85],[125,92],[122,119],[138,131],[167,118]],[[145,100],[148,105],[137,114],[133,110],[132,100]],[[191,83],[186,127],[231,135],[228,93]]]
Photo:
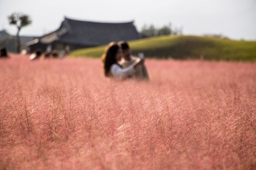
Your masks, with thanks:
[[[38,39],[30,41],[30,52],[36,49],[62,51],[65,46],[70,50],[101,46],[111,41],[129,41],[140,38],[140,33],[133,25],[127,23],[99,23],[64,18],[60,28]]]

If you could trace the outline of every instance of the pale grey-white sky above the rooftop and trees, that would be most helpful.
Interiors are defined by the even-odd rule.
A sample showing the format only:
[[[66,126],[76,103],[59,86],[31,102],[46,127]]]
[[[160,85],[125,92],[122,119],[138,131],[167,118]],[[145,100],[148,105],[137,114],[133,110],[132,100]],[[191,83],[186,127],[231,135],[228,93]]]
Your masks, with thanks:
[[[161,27],[171,22],[184,35],[223,34],[231,39],[256,40],[256,0],[0,0],[0,30],[16,34],[7,16],[22,12],[33,24],[21,35],[41,36],[71,19],[126,22]]]

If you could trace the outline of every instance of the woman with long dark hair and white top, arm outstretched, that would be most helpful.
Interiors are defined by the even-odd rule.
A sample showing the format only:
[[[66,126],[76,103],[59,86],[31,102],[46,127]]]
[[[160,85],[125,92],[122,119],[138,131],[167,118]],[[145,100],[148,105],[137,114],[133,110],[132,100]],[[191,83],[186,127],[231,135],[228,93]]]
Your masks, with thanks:
[[[131,66],[122,68],[122,66],[118,64],[122,55],[122,48],[117,43],[109,43],[102,55],[103,69],[106,77],[124,80],[135,74],[135,68],[144,62],[143,59],[138,58]]]

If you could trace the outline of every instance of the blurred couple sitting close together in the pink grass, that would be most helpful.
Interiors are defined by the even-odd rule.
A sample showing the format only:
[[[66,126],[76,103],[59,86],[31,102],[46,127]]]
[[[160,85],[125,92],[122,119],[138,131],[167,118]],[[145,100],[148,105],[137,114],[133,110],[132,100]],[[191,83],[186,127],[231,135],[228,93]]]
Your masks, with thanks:
[[[149,80],[144,54],[138,57],[131,55],[131,49],[126,41],[111,42],[102,55],[103,70],[106,77],[125,80]]]

